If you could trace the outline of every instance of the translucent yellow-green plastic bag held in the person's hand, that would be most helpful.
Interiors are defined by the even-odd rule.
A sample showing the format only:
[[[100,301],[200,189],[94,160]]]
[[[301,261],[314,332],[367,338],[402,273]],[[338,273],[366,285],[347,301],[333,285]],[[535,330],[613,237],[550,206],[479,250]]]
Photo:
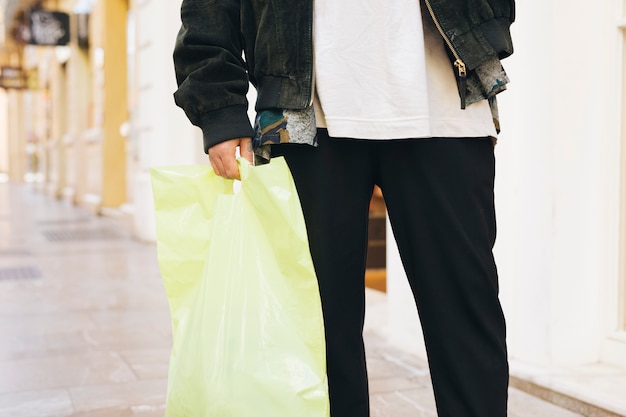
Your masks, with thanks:
[[[283,158],[153,168],[173,326],[167,417],[327,417],[322,311]]]

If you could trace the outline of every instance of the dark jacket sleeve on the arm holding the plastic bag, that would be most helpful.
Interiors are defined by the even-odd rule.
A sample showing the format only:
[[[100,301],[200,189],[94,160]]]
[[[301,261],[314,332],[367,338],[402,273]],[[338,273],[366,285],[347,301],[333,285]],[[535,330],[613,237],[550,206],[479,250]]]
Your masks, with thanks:
[[[240,0],[183,0],[181,21],[174,47],[174,100],[202,129],[204,151],[228,139],[253,136]]]

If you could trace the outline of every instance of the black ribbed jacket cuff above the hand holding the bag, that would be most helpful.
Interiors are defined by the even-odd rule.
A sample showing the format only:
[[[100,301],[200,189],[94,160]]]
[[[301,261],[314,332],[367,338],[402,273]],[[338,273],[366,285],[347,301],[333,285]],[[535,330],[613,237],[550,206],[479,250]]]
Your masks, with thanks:
[[[245,105],[224,107],[205,113],[199,126],[202,129],[205,153],[209,153],[209,148],[218,143],[254,136]]]

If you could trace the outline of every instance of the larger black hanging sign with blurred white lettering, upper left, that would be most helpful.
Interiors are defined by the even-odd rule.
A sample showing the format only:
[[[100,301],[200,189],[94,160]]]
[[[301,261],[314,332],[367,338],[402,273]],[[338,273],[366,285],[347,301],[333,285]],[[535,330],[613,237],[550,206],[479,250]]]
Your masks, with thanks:
[[[67,45],[70,42],[70,16],[63,12],[31,9],[28,22],[31,45]]]

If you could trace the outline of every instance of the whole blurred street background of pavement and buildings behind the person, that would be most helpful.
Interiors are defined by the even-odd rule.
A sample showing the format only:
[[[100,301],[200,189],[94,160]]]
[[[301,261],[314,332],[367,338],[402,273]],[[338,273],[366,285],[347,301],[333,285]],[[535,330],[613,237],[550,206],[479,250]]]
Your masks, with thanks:
[[[0,0],[0,417],[164,413],[149,172],[207,163],[172,97],[180,5]],[[626,0],[520,1],[512,35],[494,249],[510,415],[626,416]],[[372,415],[433,417],[380,194],[369,231]]]

